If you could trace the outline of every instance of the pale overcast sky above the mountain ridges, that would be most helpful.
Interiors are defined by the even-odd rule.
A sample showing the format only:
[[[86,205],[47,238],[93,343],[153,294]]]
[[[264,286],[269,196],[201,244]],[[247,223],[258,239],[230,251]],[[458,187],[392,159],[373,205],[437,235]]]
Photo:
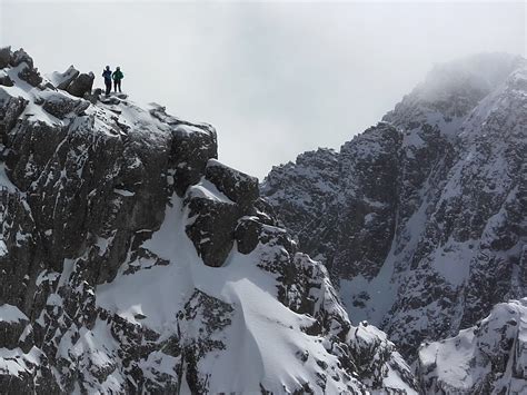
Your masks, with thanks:
[[[73,63],[212,124],[225,164],[264,177],[375,125],[436,62],[526,55],[525,2],[0,0],[0,45],[44,73]]]

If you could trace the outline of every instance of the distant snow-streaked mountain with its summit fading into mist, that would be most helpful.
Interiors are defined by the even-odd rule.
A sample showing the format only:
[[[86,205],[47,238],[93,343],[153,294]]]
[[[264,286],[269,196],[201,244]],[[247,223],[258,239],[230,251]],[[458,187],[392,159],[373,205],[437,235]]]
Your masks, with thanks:
[[[286,227],[306,235],[300,248],[324,256],[351,319],[410,357],[525,295],[526,76],[524,59],[503,55],[438,67],[334,166],[311,152],[264,181]],[[297,196],[309,200],[311,179],[330,180],[317,204],[329,208],[309,225]]]

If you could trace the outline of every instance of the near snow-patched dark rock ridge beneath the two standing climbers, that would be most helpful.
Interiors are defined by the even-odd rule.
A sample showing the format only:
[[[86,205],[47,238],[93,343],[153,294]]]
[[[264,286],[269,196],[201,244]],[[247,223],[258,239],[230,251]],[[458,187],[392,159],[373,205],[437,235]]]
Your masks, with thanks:
[[[416,393],[211,126],[23,51],[0,67],[6,392]]]

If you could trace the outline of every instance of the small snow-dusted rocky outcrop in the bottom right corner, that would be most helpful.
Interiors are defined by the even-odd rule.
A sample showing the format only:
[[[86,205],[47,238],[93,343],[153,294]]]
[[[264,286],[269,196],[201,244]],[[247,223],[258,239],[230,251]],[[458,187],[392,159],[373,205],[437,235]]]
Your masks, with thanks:
[[[455,337],[425,344],[418,371],[426,394],[525,394],[527,298],[496,305]]]

